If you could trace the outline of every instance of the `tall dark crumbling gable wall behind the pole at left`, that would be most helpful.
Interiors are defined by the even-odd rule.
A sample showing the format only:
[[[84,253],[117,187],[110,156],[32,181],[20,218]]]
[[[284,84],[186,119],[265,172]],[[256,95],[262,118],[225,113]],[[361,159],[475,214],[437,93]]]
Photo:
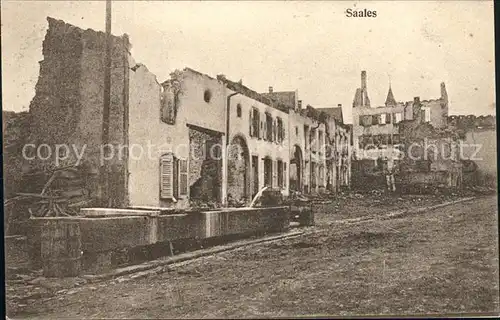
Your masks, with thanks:
[[[49,28],[43,41],[44,59],[36,94],[30,104],[31,132],[28,141],[47,144],[48,159],[28,161],[28,171],[81,164],[90,167],[93,178],[85,186],[90,197],[99,199],[101,166],[102,110],[104,106],[104,56],[106,35],[82,30],[61,20],[47,18]],[[127,37],[112,36],[111,102],[109,136],[112,144],[126,144],[128,79]],[[56,161],[55,145],[66,145],[69,153]],[[76,151],[76,152],[75,152]],[[59,155],[61,156],[61,155]],[[126,161],[111,163],[112,205],[126,202]]]

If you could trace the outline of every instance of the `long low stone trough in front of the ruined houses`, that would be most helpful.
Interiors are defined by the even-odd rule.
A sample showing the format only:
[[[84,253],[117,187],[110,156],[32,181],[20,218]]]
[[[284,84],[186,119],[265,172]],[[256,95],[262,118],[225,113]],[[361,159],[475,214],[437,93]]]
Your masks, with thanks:
[[[288,207],[236,208],[159,215],[155,210],[87,208],[78,217],[32,218],[30,257],[33,265],[43,266],[46,276],[102,273],[112,267],[111,255],[119,249],[284,231],[290,224],[288,211]]]

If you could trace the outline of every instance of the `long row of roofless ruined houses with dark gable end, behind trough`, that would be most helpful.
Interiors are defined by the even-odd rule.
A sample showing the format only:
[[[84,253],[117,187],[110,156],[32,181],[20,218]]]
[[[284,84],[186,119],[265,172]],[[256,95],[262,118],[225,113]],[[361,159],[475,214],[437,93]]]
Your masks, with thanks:
[[[93,174],[91,197],[106,195],[119,207],[187,208],[249,203],[266,186],[284,196],[349,186],[352,131],[341,106],[319,110],[297,91],[259,93],[190,68],[159,83],[134,61],[126,35],[112,40],[107,147],[114,156],[108,150],[103,177],[105,34],[48,22],[29,142],[85,148],[79,162]],[[76,160],[68,155],[61,165]],[[26,170],[53,162],[34,159]]]

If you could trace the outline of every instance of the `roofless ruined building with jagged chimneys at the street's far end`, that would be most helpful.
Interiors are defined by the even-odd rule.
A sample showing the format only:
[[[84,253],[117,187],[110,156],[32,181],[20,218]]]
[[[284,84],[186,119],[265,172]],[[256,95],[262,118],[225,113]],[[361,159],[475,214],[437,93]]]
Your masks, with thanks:
[[[396,163],[400,160],[405,163],[403,170],[414,172],[418,171],[416,168],[420,166],[427,168],[428,172],[439,172],[434,175],[447,175],[442,179],[448,179],[443,182],[446,185],[458,185],[459,163],[444,159],[446,154],[455,153],[452,145],[457,142],[455,135],[445,132],[448,123],[448,94],[445,84],[441,83],[441,95],[438,99],[420,100],[420,97],[415,97],[413,101],[408,102],[398,102],[389,85],[384,106],[371,107],[367,98],[365,71],[361,73],[361,83],[362,86],[356,90],[353,102],[354,184],[361,187],[368,186],[368,182],[377,181],[377,178],[371,175],[374,172],[381,175],[379,160],[392,158]],[[425,161],[425,164],[409,161],[408,157],[405,157],[409,145],[421,145],[425,138],[434,139],[440,146],[439,151],[435,153],[436,160]],[[453,176],[449,176],[446,171],[454,172]],[[429,178],[429,175],[424,175],[422,179]],[[383,180],[379,182],[383,183]]]

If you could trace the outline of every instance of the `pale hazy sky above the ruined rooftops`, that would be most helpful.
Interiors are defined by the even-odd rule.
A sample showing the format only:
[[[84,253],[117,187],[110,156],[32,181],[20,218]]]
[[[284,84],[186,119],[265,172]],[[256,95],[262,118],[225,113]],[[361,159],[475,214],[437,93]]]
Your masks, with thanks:
[[[389,82],[398,101],[440,96],[450,114],[495,114],[492,1],[113,1],[112,33],[159,81],[190,67],[257,92],[298,90],[303,104],[343,105],[360,73],[372,106]],[[348,18],[346,9],[375,10]],[[3,109],[27,111],[35,95],[47,16],[104,30],[104,1],[2,1]]]

